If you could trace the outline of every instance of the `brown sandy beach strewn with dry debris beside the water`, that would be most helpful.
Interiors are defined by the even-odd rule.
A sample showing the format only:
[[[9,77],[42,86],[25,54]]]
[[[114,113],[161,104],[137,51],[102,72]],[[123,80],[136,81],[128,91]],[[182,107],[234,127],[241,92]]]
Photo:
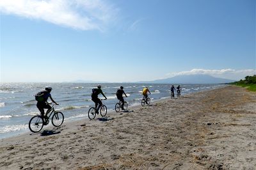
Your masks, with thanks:
[[[256,93],[227,86],[0,141],[0,169],[256,169]]]

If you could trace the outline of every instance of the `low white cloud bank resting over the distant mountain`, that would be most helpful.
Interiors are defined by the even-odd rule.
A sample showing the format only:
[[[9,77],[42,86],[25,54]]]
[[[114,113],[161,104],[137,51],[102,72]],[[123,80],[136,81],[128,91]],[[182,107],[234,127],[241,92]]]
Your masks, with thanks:
[[[247,75],[255,75],[256,69],[246,69],[246,70],[234,70],[230,68],[221,69],[221,70],[207,70],[201,68],[194,68],[192,70],[186,72],[171,72],[167,75],[170,77],[176,75],[195,75],[195,74],[206,74],[212,75],[214,77],[221,77],[225,79],[233,79],[233,80],[240,80],[244,79]]]

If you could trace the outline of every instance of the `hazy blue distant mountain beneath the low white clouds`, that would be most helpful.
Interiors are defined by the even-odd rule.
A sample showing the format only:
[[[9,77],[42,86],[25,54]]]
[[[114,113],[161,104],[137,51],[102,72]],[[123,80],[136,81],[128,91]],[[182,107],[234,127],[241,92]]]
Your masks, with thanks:
[[[211,75],[177,75],[175,77],[167,78],[167,79],[159,79],[156,81],[141,81],[138,83],[159,83],[159,84],[221,84],[234,82],[234,80],[230,79],[222,79],[218,77],[213,77]]]

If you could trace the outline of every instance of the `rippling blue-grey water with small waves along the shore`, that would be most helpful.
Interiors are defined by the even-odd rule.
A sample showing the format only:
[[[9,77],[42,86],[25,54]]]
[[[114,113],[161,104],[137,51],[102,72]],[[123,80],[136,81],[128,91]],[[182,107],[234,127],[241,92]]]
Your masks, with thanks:
[[[87,118],[87,111],[94,106],[91,100],[92,83],[1,83],[0,84],[0,138],[10,137],[22,132],[28,132],[30,118],[39,111],[36,107],[35,94],[42,91],[45,86],[52,87],[52,98],[60,105],[56,110],[63,112],[65,121]],[[124,86],[127,94],[125,101],[129,107],[139,105],[141,92],[148,87],[152,101],[170,97],[170,84],[102,84],[102,91],[108,98],[104,100],[108,110],[115,109],[116,90]],[[218,84],[182,84],[181,95],[217,88]],[[176,86],[175,86],[176,87]],[[99,98],[103,98],[99,95]],[[49,99],[50,100],[50,99]]]

